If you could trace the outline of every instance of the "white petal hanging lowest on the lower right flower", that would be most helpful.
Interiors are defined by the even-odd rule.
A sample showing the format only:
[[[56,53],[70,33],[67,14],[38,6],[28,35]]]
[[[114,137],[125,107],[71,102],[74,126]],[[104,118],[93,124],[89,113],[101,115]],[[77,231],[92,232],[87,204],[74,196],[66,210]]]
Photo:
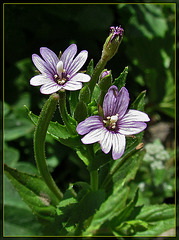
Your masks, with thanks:
[[[113,149],[112,149],[112,157],[114,160],[120,158],[125,150],[126,139],[124,135],[121,134],[113,134],[112,138]]]

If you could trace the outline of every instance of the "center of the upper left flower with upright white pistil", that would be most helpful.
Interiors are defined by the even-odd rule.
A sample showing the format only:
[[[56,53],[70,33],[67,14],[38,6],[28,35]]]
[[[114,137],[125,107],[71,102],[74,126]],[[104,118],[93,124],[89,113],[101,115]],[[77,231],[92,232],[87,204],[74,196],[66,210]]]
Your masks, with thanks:
[[[70,75],[66,73],[63,68],[63,62],[59,61],[57,63],[57,73],[53,76],[56,83],[59,85],[64,85],[70,78]]]

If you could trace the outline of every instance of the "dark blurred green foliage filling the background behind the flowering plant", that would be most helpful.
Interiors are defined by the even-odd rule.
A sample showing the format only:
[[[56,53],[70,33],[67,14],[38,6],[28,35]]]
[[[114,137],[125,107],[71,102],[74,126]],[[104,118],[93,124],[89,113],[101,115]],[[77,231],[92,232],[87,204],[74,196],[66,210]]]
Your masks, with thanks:
[[[118,54],[106,67],[117,78],[128,66],[126,87],[131,102],[140,92],[147,90],[145,111],[152,120],[150,124],[154,124],[156,119],[173,122],[174,4],[4,5],[4,162],[10,167],[38,175],[32,151],[34,125],[27,117],[24,105],[39,115],[47,97],[40,94],[38,87],[29,84],[36,71],[31,55],[39,54],[42,46],[58,54],[69,44],[76,43],[79,50],[88,50],[87,64],[93,58],[95,65],[110,26],[120,24],[125,30],[124,39]],[[60,115],[56,113],[54,119],[60,120]],[[150,149],[156,149],[156,152]],[[88,180],[84,163],[78,161],[71,149],[51,136],[47,136],[46,154],[49,169],[62,190],[68,187],[68,182]],[[174,155],[173,149],[164,149],[159,140],[146,145],[144,161],[136,180],[131,183],[133,192],[138,184],[140,186],[139,201],[157,204],[173,197]],[[40,235],[40,226],[29,208],[7,178],[4,182],[5,235],[12,236],[12,232],[16,236]],[[24,217],[17,217],[21,215],[25,215],[25,222]]]

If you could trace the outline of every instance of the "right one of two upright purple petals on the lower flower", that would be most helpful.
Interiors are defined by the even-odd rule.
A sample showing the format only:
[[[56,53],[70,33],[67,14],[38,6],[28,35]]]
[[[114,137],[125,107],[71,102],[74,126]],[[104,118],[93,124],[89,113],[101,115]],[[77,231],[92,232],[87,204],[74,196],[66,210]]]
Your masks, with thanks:
[[[114,109],[115,114],[119,114],[119,119],[121,119],[127,111],[129,105],[129,93],[125,87],[122,87],[118,93],[116,99],[116,106]]]

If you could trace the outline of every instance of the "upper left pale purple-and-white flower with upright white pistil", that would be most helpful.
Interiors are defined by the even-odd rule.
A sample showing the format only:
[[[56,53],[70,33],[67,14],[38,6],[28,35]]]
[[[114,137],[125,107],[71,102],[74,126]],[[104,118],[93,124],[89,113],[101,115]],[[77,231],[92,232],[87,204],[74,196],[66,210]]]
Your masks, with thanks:
[[[42,85],[41,93],[51,94],[64,89],[75,91],[82,88],[82,82],[90,81],[89,75],[77,73],[86,62],[88,52],[83,50],[74,59],[77,53],[76,44],[71,44],[60,59],[46,47],[41,47],[40,53],[43,59],[33,54],[32,61],[41,74],[31,78],[30,84]]]

